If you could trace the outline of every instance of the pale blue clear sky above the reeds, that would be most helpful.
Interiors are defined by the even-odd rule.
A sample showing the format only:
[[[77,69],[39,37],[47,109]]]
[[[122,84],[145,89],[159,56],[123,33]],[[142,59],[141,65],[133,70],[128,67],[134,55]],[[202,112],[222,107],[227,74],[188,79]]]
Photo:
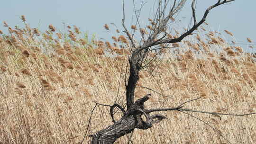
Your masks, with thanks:
[[[142,0],[135,1],[138,9]],[[196,11],[198,19],[206,7],[216,1],[198,0]],[[147,18],[152,16],[151,8],[155,0],[144,0],[144,2],[146,4],[141,15],[142,24],[145,24]],[[130,27],[134,7],[132,0],[125,0],[125,3],[126,24]],[[111,32],[106,33],[103,25],[115,23],[119,30],[122,30],[121,6],[121,0],[2,0],[0,30],[7,32],[7,28],[2,27],[2,21],[6,21],[11,27],[23,26],[20,16],[25,15],[27,23],[31,27],[39,26],[41,31],[45,31],[49,24],[53,24],[57,29],[64,31],[64,22],[66,25],[76,25],[81,31],[89,31],[89,34],[95,33],[99,38],[108,39],[112,34]],[[206,21],[215,31],[224,34],[224,29],[229,30],[235,35],[238,42],[247,42],[246,37],[250,37],[256,44],[255,6],[256,0],[235,0],[230,4],[212,9]],[[190,18],[190,3],[187,3],[177,19],[183,20],[183,25],[187,26]],[[226,39],[231,40],[229,36],[226,36]],[[246,48],[247,45],[244,44],[241,43],[241,46]]]

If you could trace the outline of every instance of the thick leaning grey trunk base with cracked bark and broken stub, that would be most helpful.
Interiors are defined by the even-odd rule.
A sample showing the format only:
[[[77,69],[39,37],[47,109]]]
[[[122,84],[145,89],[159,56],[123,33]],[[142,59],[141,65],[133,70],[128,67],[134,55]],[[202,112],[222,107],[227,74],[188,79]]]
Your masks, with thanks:
[[[119,121],[90,135],[92,136],[91,144],[113,144],[119,137],[131,133],[135,128],[148,129],[152,127],[152,124],[166,118],[159,114],[150,116],[146,113],[144,102],[149,97],[150,94],[147,94],[143,98],[138,99]],[[143,121],[141,118],[142,115],[145,115],[146,121]]]

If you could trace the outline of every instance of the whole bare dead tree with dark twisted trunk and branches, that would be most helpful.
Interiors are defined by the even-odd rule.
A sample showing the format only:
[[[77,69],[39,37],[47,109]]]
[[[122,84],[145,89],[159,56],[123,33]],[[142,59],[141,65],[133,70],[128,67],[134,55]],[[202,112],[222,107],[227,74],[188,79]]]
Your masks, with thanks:
[[[203,112],[203,111],[195,111],[191,109],[184,109],[183,106],[187,102],[184,102],[177,106],[176,108],[155,108],[155,109],[146,109],[144,107],[144,103],[150,98],[151,94],[147,94],[141,99],[134,100],[135,95],[135,88],[137,85],[137,81],[139,80],[139,72],[146,66],[150,64],[146,63],[147,55],[150,51],[155,50],[154,46],[161,45],[161,44],[171,44],[181,42],[184,37],[189,36],[192,34],[194,30],[196,30],[203,22],[205,22],[208,13],[211,9],[223,5],[225,3],[229,3],[234,0],[217,0],[214,5],[211,5],[206,11],[204,12],[203,17],[199,22],[197,22],[197,18],[195,15],[195,2],[196,0],[192,1],[191,9],[192,9],[192,19],[193,19],[193,26],[189,28],[185,33],[177,38],[168,38],[166,37],[166,28],[170,20],[177,14],[181,9],[183,9],[184,4],[187,0],[173,0],[173,3],[169,3],[169,0],[159,0],[158,1],[158,10],[155,13],[155,18],[152,21],[154,23],[153,27],[150,28],[150,33],[147,37],[142,35],[143,42],[141,45],[135,45],[134,35],[131,34],[125,26],[125,13],[124,13],[124,1],[123,1],[123,19],[122,24],[124,27],[124,32],[127,34],[131,47],[132,47],[132,54],[128,58],[129,63],[129,73],[128,73],[128,81],[126,81],[126,104],[127,107],[123,108],[119,104],[114,104],[110,107],[110,116],[113,120],[113,125],[106,127],[98,131],[97,133],[91,136],[91,144],[113,144],[119,137],[127,135],[134,131],[134,129],[148,129],[151,128],[153,124],[162,121],[163,119],[167,118],[161,114],[154,114],[150,115],[152,112],[157,111],[168,111],[168,110],[178,110],[178,111],[192,111],[192,112],[201,112],[201,113],[209,113],[215,115],[230,115],[230,114],[222,114],[222,113],[210,113],[210,112]],[[171,7],[170,7],[171,6]],[[166,9],[170,7],[170,10],[166,12]],[[138,21],[137,21],[138,23]],[[166,47],[159,47],[158,49],[165,49]],[[198,98],[199,99],[199,98]],[[119,108],[123,115],[118,120],[115,121],[114,119],[114,108]],[[255,113],[250,113],[255,114]],[[243,115],[235,115],[235,116],[245,116],[250,114],[243,114]],[[142,116],[146,117],[146,120],[143,120]],[[232,115],[232,114],[231,114]]]

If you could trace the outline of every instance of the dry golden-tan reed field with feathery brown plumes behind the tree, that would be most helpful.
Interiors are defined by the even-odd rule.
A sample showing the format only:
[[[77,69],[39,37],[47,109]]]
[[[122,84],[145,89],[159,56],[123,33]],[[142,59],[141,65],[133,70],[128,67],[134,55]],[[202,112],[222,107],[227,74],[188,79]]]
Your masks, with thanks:
[[[9,27],[4,22],[9,33],[0,31],[0,144],[80,144],[94,102],[113,105],[117,94],[119,104],[125,101],[124,74],[131,54],[128,38],[119,32],[110,36],[111,42],[91,39],[75,26],[62,33],[49,25],[46,32],[40,32],[29,27],[24,16],[22,20],[24,27]],[[161,58],[140,72],[136,99],[151,93],[147,108],[171,108],[201,97],[184,108],[255,112],[255,55],[236,45],[231,32],[225,31],[234,39],[232,45],[208,29],[206,23],[182,42],[172,44],[173,48],[150,53],[149,60],[157,53]],[[146,34],[146,30],[137,31]],[[228,143],[194,117],[178,111],[160,113],[168,119],[148,130],[136,129],[131,138],[134,144]],[[213,126],[231,143],[256,143],[256,115],[188,113]],[[112,124],[109,107],[98,105],[91,118],[87,135]],[[90,140],[86,137],[83,144]],[[127,142],[123,136],[116,144]]]

